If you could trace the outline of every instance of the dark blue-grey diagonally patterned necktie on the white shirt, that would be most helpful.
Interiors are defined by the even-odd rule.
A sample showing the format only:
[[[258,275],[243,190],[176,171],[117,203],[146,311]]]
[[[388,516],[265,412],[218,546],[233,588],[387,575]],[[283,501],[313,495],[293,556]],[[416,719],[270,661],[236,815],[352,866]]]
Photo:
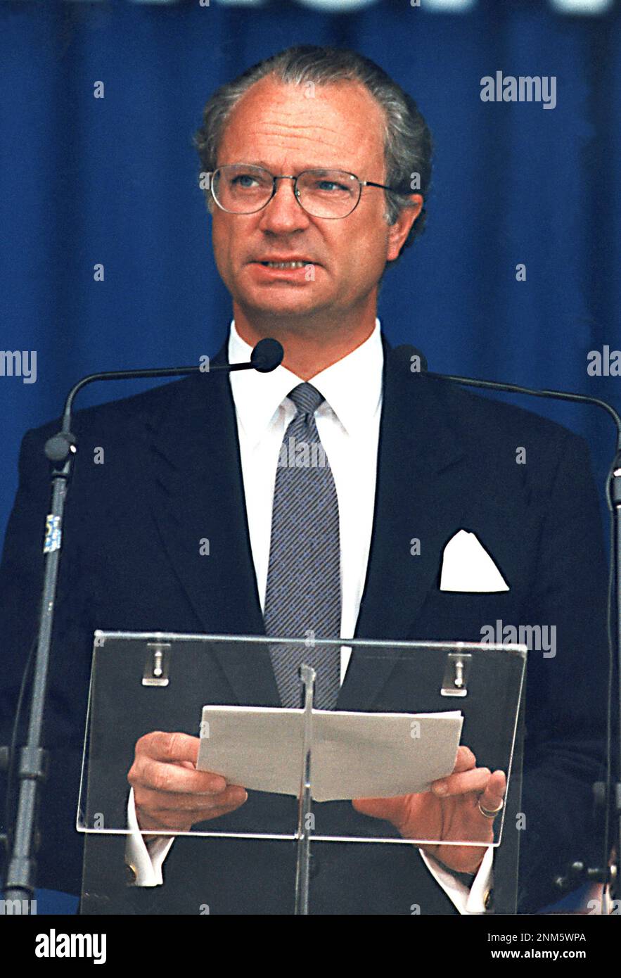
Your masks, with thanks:
[[[340,634],[338,500],[315,422],[324,397],[311,383],[299,383],[288,396],[297,414],[276,470],[263,617],[268,636],[310,640],[271,650],[282,705],[302,705],[298,670],[305,662],[317,673],[316,708],[331,710],[340,687],[339,646],[312,644]]]

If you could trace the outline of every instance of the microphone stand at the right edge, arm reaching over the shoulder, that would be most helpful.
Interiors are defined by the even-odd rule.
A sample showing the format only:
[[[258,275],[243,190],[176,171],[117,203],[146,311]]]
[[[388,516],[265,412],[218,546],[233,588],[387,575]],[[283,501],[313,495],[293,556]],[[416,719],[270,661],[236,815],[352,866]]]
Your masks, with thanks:
[[[405,355],[408,356],[410,362],[412,362],[411,354],[413,350],[421,358],[420,351],[414,347],[404,347]],[[556,400],[579,401],[582,404],[595,404],[605,411],[616,424],[617,443],[614,459],[608,472],[606,489],[608,508],[612,513],[613,523],[610,539],[610,579],[613,590],[613,596],[611,598],[613,609],[611,609],[611,614],[615,618],[614,636],[617,656],[617,765],[621,765],[621,417],[619,417],[619,414],[612,405],[600,400],[599,397],[589,397],[586,394],[575,394],[566,390],[537,390],[533,387],[522,387],[516,383],[502,383],[497,380],[480,380],[450,374],[434,374],[426,370],[426,363],[423,358],[420,359],[420,362],[422,362],[422,373],[428,378],[451,380],[454,383],[459,383],[466,387],[485,387],[490,390],[504,390],[516,394],[529,394],[534,397],[547,397]],[[609,620],[608,628],[610,633],[612,632],[611,624]],[[610,792],[616,819],[615,864],[612,867],[606,866],[591,869],[585,867],[582,863],[573,863],[569,867],[567,876],[557,878],[556,883],[560,889],[567,889],[572,884],[578,885],[582,881],[581,876],[583,880],[612,882],[613,886],[618,888],[619,860],[621,859],[621,770],[617,770],[616,781],[611,785],[606,785],[606,800],[610,797]]]

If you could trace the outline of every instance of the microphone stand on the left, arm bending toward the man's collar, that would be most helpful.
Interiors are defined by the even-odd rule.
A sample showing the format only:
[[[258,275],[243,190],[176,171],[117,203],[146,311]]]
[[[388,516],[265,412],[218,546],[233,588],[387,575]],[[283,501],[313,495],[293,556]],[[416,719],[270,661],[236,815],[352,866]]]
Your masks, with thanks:
[[[201,367],[157,367],[147,370],[105,371],[90,374],[73,384],[67,394],[63,423],[58,434],[45,444],[45,455],[52,463],[52,502],[46,518],[43,544],[44,575],[39,624],[36,639],[34,679],[30,700],[27,740],[19,752],[18,780],[20,791],[13,839],[9,833],[11,856],[5,884],[5,903],[21,901],[22,909],[30,912],[34,893],[35,858],[38,846],[34,845],[37,798],[39,786],[46,779],[48,752],[42,747],[45,695],[50,661],[50,647],[54,628],[54,614],[58,587],[63,517],[67,500],[67,484],[77,451],[77,440],[71,432],[71,409],[76,394],[95,380],[127,380],[131,378],[184,377],[190,374],[231,373],[239,370],[257,370],[267,374],[283,360],[283,347],[275,339],[261,339],[252,350],[248,363]]]

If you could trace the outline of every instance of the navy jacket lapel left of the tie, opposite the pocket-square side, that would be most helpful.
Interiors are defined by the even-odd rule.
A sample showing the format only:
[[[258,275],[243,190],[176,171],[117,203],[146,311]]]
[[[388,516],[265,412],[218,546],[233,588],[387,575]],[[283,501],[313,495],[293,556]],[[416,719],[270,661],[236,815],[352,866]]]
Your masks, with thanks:
[[[225,344],[212,363],[226,362]],[[205,632],[264,635],[228,375],[199,374],[172,386],[172,403],[150,425],[163,547]],[[252,652],[249,665],[247,654],[235,646],[218,654],[238,701],[278,703],[269,658]]]

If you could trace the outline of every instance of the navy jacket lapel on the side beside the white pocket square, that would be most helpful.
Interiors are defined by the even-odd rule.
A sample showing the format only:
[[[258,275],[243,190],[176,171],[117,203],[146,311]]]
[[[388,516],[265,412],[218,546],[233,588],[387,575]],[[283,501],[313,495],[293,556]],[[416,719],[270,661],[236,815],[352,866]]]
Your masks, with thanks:
[[[411,373],[409,357],[386,345],[373,534],[355,638],[405,641],[416,638],[416,618],[437,586],[443,548],[460,526],[465,453],[446,391]],[[420,554],[412,553],[412,541],[420,541]],[[395,662],[396,653],[355,651],[338,708],[373,705]]]

